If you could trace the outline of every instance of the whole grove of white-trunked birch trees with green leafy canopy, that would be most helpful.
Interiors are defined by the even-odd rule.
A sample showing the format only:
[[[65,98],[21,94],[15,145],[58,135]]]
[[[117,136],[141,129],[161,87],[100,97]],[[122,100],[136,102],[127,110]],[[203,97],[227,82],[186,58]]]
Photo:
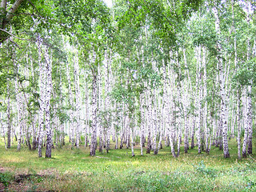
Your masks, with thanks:
[[[254,0],[2,0],[6,149],[252,154]],[[139,143],[138,143],[139,142]],[[181,150],[182,149],[182,150]]]

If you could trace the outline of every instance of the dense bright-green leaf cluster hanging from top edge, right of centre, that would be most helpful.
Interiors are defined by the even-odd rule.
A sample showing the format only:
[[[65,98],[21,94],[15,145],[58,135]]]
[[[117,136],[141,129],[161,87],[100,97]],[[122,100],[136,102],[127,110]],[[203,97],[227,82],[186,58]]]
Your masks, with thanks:
[[[198,10],[201,2],[201,0],[184,0],[170,5],[168,2],[158,0],[129,1],[126,12],[118,18],[118,26],[122,28],[127,23],[134,23],[137,27],[144,26],[149,19],[150,27],[155,29],[156,36],[174,44],[174,30],[181,26],[182,20]]]

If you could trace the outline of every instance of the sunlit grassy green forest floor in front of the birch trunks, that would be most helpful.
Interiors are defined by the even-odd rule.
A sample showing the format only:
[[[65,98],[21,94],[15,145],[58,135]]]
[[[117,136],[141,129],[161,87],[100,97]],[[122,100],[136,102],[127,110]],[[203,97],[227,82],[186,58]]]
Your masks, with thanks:
[[[157,155],[145,148],[141,156],[138,146],[134,157],[130,149],[90,157],[88,147],[68,144],[53,149],[52,158],[38,158],[36,150],[18,152],[15,144],[6,150],[0,141],[0,191],[256,191],[256,142],[253,155],[242,160],[235,138],[227,159],[214,146],[210,154],[181,149],[178,158],[170,147]]]

